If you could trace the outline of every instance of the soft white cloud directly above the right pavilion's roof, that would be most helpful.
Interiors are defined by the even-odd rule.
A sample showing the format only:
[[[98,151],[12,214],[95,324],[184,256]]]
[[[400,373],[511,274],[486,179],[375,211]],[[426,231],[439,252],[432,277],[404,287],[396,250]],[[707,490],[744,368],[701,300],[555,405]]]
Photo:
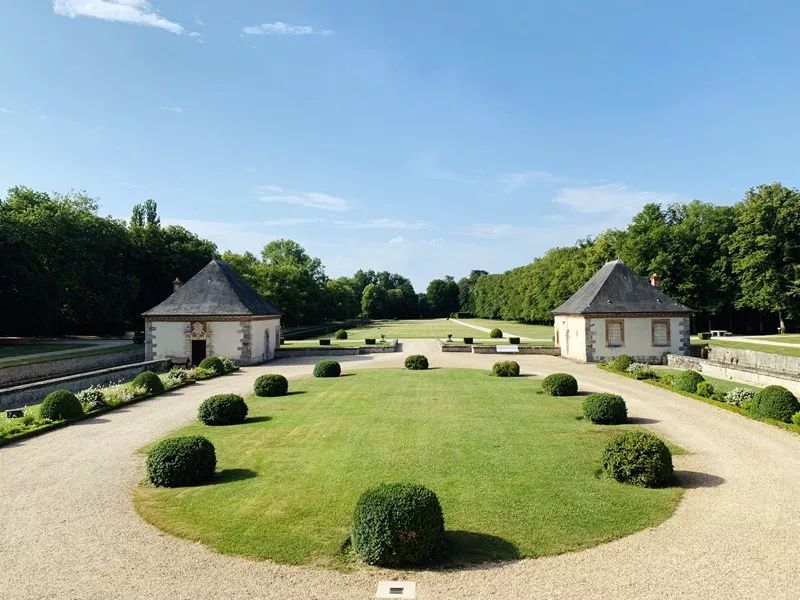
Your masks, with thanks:
[[[625,215],[633,215],[651,202],[661,204],[681,200],[684,198],[680,194],[634,190],[622,183],[562,188],[553,198],[556,204],[562,204],[579,213],[614,212]]]

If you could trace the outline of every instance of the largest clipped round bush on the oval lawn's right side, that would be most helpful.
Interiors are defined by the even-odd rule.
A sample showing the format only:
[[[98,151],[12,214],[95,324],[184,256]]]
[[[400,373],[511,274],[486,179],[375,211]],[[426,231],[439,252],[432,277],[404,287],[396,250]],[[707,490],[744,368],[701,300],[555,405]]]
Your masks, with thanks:
[[[672,477],[672,453],[652,433],[624,431],[606,445],[603,471],[623,483],[658,487]]]

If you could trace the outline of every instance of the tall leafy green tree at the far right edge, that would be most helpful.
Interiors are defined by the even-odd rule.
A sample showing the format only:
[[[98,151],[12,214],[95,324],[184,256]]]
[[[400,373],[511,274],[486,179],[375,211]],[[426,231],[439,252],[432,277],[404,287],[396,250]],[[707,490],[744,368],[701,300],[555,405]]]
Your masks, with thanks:
[[[748,190],[728,244],[737,306],[776,313],[785,331],[800,308],[800,191],[780,183]]]

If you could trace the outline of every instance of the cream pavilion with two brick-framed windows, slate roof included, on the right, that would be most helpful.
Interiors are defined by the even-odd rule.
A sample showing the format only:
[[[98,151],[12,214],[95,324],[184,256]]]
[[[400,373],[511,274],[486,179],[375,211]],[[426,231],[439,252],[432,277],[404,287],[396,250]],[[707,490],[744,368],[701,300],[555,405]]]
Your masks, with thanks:
[[[667,354],[688,355],[692,309],[667,296],[660,278],[650,282],[620,260],[603,265],[553,311],[561,355],[603,362],[627,354],[660,364]]]

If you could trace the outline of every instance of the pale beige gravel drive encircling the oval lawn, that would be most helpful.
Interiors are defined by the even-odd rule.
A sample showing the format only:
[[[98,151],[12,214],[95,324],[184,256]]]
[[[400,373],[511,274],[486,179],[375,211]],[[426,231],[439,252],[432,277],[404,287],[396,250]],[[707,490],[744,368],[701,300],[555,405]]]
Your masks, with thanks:
[[[404,344],[433,366],[486,368],[496,357]],[[403,355],[342,357],[345,369],[395,366]],[[226,557],[163,534],[134,512],[137,450],[194,418],[220,391],[246,393],[265,372],[310,373],[284,360],[189,386],[0,449],[0,597],[367,599],[379,579],[408,578],[425,599],[796,599],[800,597],[800,437],[641,382],[547,356],[523,372],[574,373],[583,389],[624,395],[630,415],[683,446],[689,489],[658,527],[582,552],[411,573],[338,573]]]

